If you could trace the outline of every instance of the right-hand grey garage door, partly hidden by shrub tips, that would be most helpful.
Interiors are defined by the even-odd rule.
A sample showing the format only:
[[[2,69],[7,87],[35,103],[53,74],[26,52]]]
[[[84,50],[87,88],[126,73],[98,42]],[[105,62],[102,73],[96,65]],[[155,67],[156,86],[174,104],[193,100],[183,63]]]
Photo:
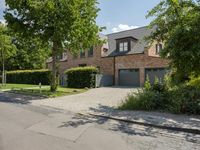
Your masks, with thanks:
[[[150,83],[153,84],[155,78],[157,77],[160,82],[163,82],[164,76],[167,74],[168,70],[165,68],[151,68],[145,69],[145,76],[149,77]]]

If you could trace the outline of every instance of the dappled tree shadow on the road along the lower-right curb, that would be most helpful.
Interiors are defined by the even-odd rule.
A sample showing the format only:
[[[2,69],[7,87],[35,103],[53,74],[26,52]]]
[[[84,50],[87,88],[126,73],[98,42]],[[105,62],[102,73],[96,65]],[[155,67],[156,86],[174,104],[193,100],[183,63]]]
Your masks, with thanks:
[[[106,114],[107,116],[111,116],[117,113],[117,111],[113,109],[112,107],[102,106],[102,105],[99,105],[98,108],[90,108],[90,111],[93,111],[96,113],[103,113],[104,115]],[[124,116],[121,116],[121,117],[124,117]],[[141,119],[141,118],[136,118],[136,116],[129,116],[129,119],[130,117],[135,117],[134,119],[138,119],[138,120]],[[164,122],[166,121],[164,119],[165,118],[163,117],[161,120],[163,120]],[[58,128],[64,128],[64,127],[78,128],[79,126],[83,126],[86,124],[96,124],[96,125],[106,126],[106,124],[109,124],[110,121],[111,120],[108,118],[76,115],[70,121],[63,122],[63,124],[59,126]],[[126,123],[126,122],[121,122],[121,121],[112,122],[112,125],[109,126],[109,130],[113,132],[121,132],[130,136],[137,135],[137,136],[145,136],[145,137],[153,137],[153,138],[157,138],[158,135],[163,134],[163,133],[166,134],[166,136],[169,136],[169,135],[175,136],[176,134],[179,134],[179,135],[181,134],[181,136],[185,138],[185,140],[188,142],[192,142],[192,143],[200,142],[198,140],[199,136],[195,134],[171,131],[171,130],[163,130],[164,132],[160,133],[161,130],[155,129],[150,126],[149,127],[139,126],[139,125],[134,125],[131,123]]]

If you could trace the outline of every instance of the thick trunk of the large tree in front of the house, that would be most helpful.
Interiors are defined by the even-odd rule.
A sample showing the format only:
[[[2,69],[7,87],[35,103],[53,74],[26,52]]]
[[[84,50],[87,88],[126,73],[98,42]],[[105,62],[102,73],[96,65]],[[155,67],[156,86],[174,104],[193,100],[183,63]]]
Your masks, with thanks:
[[[51,92],[56,92],[58,87],[58,80],[57,80],[57,44],[53,42],[52,48],[52,75],[51,75]]]

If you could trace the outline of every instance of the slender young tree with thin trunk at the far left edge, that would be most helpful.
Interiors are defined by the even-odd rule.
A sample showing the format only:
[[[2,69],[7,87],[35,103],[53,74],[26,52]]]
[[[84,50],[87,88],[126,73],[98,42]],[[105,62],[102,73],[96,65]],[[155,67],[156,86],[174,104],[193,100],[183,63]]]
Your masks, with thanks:
[[[0,24],[0,62],[2,64],[2,83],[4,84],[5,60],[16,53],[16,47],[12,44],[12,37],[8,34],[8,29]]]

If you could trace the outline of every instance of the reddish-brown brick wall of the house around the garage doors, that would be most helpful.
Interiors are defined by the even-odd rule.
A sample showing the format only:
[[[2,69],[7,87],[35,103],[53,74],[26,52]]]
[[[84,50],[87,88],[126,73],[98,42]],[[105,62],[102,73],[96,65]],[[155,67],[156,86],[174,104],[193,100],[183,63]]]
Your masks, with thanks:
[[[169,60],[164,60],[156,55],[155,44],[146,48],[144,54],[132,54],[125,56],[114,57],[101,57],[103,53],[102,46],[94,47],[93,57],[88,57],[87,51],[85,58],[74,58],[68,53],[68,59],[59,63],[59,72],[63,74],[67,69],[78,67],[80,64],[87,64],[87,66],[99,67],[102,74],[114,75],[115,70],[115,83],[118,85],[118,77],[120,69],[139,69],[140,70],[140,85],[143,86],[145,82],[145,68],[165,68],[169,65]],[[114,69],[115,67],[115,69]],[[48,64],[51,68],[51,64]]]

